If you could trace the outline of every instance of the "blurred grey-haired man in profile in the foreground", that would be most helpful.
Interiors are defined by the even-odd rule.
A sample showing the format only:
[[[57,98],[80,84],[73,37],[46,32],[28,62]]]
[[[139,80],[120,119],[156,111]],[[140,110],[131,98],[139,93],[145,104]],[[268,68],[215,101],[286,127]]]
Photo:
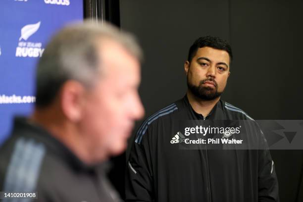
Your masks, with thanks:
[[[120,201],[101,162],[125,150],[144,114],[141,54],[132,36],[106,24],[55,35],[38,64],[35,110],[15,120],[0,150],[0,191],[36,192],[47,202]]]

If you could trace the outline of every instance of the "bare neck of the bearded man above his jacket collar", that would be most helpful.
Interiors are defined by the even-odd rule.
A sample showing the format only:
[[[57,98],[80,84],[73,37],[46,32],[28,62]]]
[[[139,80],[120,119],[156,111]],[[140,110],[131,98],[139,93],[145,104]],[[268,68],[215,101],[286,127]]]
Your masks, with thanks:
[[[212,108],[216,105],[216,103],[220,100],[220,97],[210,100],[210,101],[205,101],[201,100],[200,98],[197,98],[194,96],[189,90],[187,91],[187,98],[188,101],[190,102],[191,106],[193,109],[197,112],[202,114],[202,116],[206,117]]]

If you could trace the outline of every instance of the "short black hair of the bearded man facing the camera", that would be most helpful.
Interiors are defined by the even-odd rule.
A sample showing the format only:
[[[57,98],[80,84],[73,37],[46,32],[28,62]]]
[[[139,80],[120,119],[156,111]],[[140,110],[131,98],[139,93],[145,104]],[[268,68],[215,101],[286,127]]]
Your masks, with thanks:
[[[191,62],[193,57],[196,55],[197,50],[203,47],[211,47],[218,50],[225,50],[229,54],[230,62],[233,59],[233,53],[227,41],[220,39],[219,37],[205,36],[200,37],[194,42],[188,52],[187,60]]]

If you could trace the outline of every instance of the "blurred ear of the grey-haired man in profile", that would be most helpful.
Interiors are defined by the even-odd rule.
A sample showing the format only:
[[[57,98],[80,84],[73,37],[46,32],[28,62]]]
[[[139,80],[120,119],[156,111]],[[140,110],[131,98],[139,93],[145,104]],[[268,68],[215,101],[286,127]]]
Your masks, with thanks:
[[[61,87],[60,104],[62,113],[72,122],[78,122],[82,117],[85,88],[77,81],[66,81]]]

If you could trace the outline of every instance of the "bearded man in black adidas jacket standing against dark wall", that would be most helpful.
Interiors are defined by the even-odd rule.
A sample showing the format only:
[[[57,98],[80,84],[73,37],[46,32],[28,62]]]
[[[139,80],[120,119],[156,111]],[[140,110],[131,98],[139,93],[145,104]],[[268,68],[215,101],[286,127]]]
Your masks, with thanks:
[[[220,100],[231,60],[230,45],[217,37],[199,38],[191,46],[184,65],[186,96],[153,114],[137,132],[127,162],[127,201],[279,201],[274,163],[266,147],[180,149],[185,144],[185,136],[179,131],[182,120],[253,121],[243,110]]]

